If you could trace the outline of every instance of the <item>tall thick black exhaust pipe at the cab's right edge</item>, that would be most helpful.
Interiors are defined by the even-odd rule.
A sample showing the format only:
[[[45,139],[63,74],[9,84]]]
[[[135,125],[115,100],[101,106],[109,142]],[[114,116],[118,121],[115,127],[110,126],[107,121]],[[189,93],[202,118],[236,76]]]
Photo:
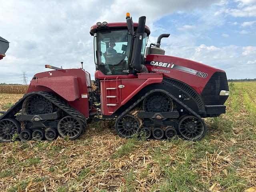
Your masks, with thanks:
[[[135,42],[135,49],[134,49],[134,58],[132,61],[132,68],[134,68],[138,72],[146,73],[148,72],[148,69],[146,66],[142,64],[143,62],[143,56],[141,56],[140,52],[142,49],[142,43],[143,43],[143,36],[145,32],[145,24],[146,24],[146,16],[141,16],[139,18],[138,22],[138,29],[136,38],[134,40]]]

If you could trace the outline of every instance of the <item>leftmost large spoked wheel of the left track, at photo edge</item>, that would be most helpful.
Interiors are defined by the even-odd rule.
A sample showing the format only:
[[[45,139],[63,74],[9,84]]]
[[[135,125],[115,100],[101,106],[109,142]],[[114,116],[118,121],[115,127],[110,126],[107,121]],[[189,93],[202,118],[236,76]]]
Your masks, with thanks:
[[[19,134],[20,122],[16,119],[7,118],[0,121],[0,142],[10,142],[12,141],[12,136],[14,134]]]

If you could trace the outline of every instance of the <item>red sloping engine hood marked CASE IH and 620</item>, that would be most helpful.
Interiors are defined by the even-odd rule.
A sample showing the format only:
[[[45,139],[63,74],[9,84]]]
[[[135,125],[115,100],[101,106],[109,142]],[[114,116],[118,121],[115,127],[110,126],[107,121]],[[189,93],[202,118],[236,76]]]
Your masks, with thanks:
[[[192,88],[194,88],[194,90],[196,90],[198,94],[202,93],[204,86],[206,85],[208,80],[211,78],[211,76],[214,74],[214,72],[224,72],[223,70],[220,70],[199,62],[195,62],[195,61],[184,59],[184,58],[178,58],[174,56],[150,54],[146,56],[146,62],[150,62],[150,61],[165,62],[170,64],[173,63],[174,65],[184,66],[196,71],[207,73],[208,76],[206,78],[202,78],[194,74],[176,70],[175,68],[167,68],[162,66],[154,66],[154,65],[146,64],[148,71],[156,72],[154,71],[154,69],[169,70],[170,73],[165,73],[165,72],[156,72],[156,73],[162,73],[164,77],[169,77],[169,78],[173,78],[181,82],[184,82],[189,86],[191,86]]]

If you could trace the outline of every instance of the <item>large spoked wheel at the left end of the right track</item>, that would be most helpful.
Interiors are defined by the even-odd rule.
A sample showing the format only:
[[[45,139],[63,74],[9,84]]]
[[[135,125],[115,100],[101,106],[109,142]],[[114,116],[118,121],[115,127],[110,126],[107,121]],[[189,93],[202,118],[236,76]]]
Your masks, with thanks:
[[[140,128],[140,121],[132,115],[125,115],[116,120],[116,133],[121,137],[131,138]]]

